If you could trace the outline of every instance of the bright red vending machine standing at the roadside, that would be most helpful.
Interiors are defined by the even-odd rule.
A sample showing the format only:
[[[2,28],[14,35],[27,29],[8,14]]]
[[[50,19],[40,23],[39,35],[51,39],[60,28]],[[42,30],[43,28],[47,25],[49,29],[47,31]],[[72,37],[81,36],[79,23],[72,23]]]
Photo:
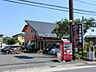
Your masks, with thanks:
[[[60,43],[60,50],[62,49],[62,60],[72,60],[72,43]]]

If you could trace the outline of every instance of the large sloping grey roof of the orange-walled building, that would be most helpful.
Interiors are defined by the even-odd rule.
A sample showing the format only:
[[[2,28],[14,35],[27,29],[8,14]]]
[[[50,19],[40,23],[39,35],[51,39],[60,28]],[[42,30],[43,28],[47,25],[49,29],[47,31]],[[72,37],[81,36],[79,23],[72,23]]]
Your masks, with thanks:
[[[56,37],[52,31],[55,29],[56,24],[48,22],[30,21],[25,20],[25,22],[34,29],[40,37]]]

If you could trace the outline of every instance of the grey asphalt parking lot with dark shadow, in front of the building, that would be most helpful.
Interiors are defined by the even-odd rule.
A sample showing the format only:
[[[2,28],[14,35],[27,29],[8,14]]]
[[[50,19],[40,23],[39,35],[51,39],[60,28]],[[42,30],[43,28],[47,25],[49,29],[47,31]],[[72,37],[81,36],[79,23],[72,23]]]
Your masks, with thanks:
[[[51,55],[43,55],[43,54],[7,54],[0,55],[0,65],[8,65],[8,64],[23,64],[23,63],[43,63],[43,62],[51,62],[56,58]]]

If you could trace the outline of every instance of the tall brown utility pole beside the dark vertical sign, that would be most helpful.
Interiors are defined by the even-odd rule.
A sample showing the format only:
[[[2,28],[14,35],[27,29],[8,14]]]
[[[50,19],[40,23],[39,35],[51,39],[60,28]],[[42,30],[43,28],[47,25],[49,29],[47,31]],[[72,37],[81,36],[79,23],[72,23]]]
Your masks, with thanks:
[[[73,0],[69,0],[69,23],[70,23],[70,42],[72,43],[72,24],[74,21],[73,17]],[[72,43],[72,48],[73,48],[73,60],[75,60],[75,49],[74,45]]]

